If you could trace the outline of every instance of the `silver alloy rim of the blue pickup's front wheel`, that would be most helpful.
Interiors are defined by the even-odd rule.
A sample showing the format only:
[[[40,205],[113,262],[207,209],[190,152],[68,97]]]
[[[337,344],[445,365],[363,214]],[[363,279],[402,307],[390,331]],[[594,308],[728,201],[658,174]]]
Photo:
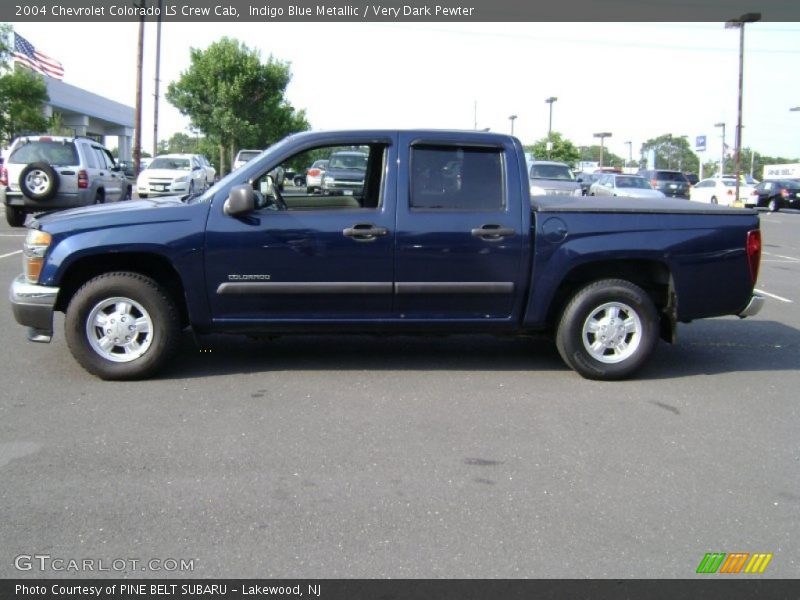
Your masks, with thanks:
[[[98,355],[112,362],[130,362],[153,342],[153,320],[130,298],[107,298],[86,318],[86,337]]]

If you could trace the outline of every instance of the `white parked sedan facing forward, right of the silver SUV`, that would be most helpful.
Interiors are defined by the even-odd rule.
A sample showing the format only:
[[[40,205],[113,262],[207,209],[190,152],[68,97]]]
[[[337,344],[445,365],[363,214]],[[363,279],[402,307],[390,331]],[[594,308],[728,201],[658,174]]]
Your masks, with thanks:
[[[206,170],[194,154],[156,156],[136,180],[139,198],[196,194],[206,189]]]

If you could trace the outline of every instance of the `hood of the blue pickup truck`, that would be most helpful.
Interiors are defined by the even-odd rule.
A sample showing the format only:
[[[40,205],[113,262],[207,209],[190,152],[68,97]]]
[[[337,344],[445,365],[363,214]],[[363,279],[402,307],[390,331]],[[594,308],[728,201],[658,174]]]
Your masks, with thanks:
[[[128,200],[50,213],[34,219],[30,227],[56,234],[123,225],[187,221],[197,211],[205,212],[208,207],[206,203],[186,204],[181,202],[179,196]]]

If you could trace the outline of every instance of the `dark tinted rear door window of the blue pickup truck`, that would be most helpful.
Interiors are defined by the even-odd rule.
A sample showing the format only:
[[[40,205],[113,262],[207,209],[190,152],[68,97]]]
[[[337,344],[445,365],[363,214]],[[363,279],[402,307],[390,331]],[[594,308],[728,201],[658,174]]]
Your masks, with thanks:
[[[501,151],[456,146],[414,147],[410,205],[432,210],[502,209]]]

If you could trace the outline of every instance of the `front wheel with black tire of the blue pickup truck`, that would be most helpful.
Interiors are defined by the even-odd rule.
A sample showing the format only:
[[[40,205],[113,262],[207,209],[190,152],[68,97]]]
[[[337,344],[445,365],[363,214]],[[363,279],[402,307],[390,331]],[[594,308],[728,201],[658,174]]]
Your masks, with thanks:
[[[127,311],[122,308],[125,304],[130,305]],[[99,318],[108,323],[107,336],[102,331],[105,325],[89,326]],[[75,293],[64,331],[72,355],[84,369],[101,379],[120,381],[146,379],[164,367],[177,350],[181,326],[175,301],[155,280],[119,271],[98,275]],[[129,332],[132,341],[126,342],[122,336]],[[112,339],[115,335],[120,337]],[[103,340],[108,349],[103,349]]]

